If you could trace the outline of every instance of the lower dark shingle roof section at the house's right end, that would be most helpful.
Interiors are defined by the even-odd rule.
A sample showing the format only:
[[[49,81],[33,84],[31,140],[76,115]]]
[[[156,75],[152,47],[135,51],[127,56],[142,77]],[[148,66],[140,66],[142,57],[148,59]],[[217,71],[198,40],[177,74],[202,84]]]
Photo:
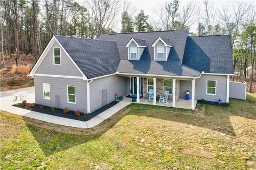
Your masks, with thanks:
[[[205,73],[234,74],[230,36],[187,37],[182,63]]]

